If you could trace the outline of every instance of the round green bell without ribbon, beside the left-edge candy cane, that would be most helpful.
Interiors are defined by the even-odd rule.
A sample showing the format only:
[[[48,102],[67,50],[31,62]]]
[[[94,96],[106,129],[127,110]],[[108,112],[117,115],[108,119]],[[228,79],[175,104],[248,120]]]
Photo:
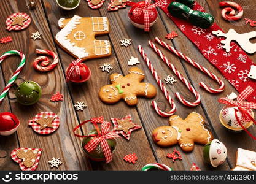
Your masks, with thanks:
[[[16,99],[22,105],[33,105],[41,98],[41,86],[34,81],[21,83],[16,90]]]

